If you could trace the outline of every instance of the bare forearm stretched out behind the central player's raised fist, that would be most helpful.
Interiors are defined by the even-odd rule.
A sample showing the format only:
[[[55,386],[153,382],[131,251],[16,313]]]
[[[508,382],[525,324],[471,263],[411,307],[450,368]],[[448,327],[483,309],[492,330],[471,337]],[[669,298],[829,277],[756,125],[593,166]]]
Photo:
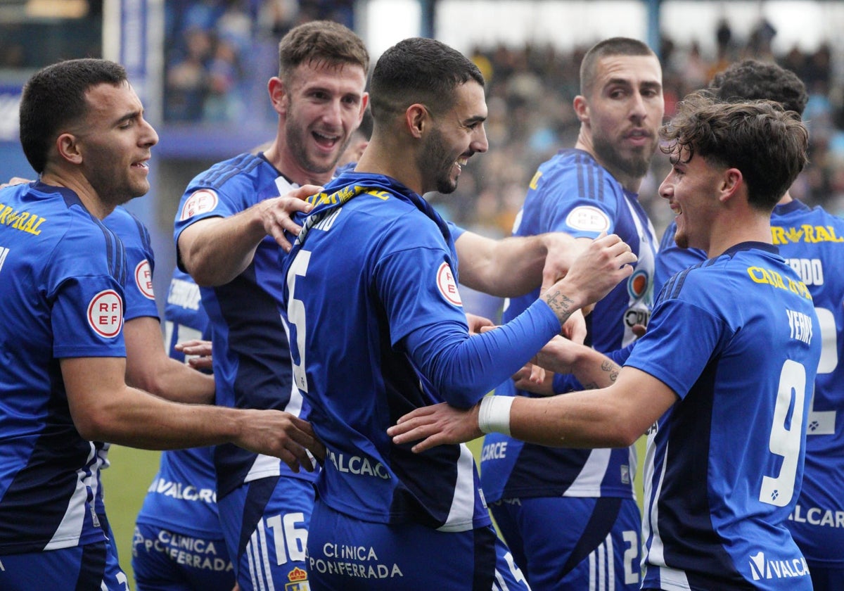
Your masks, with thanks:
[[[455,241],[460,282],[490,295],[524,295],[565,275],[586,244],[565,232],[493,240],[467,230]]]

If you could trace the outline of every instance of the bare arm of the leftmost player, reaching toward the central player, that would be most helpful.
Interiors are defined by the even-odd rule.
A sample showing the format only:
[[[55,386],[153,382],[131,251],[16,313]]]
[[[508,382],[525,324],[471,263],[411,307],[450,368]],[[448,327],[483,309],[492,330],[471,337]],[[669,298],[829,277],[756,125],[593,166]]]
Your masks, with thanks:
[[[73,424],[89,441],[143,449],[231,442],[281,458],[295,471],[313,469],[306,449],[324,457],[311,425],[289,413],[160,399],[126,385],[123,357],[64,358],[60,366]]]

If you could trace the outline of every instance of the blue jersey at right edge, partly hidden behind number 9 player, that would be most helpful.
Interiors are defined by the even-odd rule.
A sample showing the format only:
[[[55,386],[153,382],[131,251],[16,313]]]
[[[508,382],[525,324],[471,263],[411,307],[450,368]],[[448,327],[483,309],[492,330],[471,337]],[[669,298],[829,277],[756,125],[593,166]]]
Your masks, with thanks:
[[[674,222],[657,254],[657,283],[706,258],[674,244]],[[788,528],[807,560],[844,566],[844,220],[793,200],[771,214],[771,237],[803,283],[818,314],[823,344],[809,406],[803,485]]]

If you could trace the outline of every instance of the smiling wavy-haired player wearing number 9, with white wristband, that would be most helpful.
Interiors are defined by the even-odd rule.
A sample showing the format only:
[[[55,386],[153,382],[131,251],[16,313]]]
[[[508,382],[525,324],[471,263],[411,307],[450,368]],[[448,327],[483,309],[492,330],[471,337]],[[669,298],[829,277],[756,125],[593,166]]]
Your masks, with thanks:
[[[422,453],[489,431],[581,447],[647,431],[643,589],[808,590],[786,522],[821,335],[809,289],[771,244],[771,210],[807,161],[808,133],[773,102],[690,95],[661,136],[678,242],[709,258],[663,287],[618,375],[606,363],[598,390],[440,404],[390,433],[423,439]]]

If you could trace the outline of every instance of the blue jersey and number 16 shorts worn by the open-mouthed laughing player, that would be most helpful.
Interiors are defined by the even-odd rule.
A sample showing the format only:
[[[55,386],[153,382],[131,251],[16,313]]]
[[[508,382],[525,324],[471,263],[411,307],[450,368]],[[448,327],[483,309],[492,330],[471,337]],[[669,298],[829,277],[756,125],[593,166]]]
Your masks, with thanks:
[[[294,187],[263,155],[219,162],[197,175],[182,196],[176,245],[181,231],[198,220],[238,214]],[[308,408],[293,387],[281,322],[279,253],[267,236],[230,283],[200,288],[214,336],[216,399],[222,406],[279,409],[307,419]],[[315,474],[295,473],[279,458],[233,444],[215,447],[214,468],[220,521],[241,589],[264,588],[270,580],[275,588],[301,584]],[[293,499],[289,512],[286,499]]]

